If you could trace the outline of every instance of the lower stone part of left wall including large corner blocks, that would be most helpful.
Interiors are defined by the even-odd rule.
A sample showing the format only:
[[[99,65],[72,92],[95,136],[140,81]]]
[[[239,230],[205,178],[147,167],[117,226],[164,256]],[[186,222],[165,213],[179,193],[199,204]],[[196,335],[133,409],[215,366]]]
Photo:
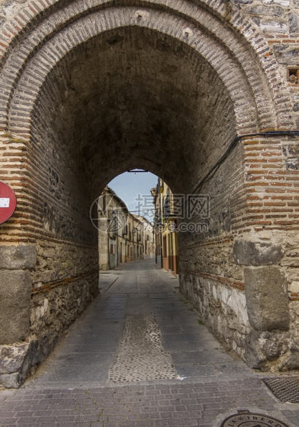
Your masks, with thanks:
[[[20,386],[96,297],[97,258],[70,242],[1,245],[1,385]]]

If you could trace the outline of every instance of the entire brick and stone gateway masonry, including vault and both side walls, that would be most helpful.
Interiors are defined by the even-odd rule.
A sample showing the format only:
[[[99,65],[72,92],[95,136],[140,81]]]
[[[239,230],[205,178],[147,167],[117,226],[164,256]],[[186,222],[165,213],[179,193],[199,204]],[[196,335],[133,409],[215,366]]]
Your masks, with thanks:
[[[298,16],[289,0],[1,2],[1,180],[18,198],[1,246],[37,253],[0,265],[32,284],[27,329],[2,344],[50,353],[96,294],[89,207],[143,167],[211,197],[208,233],[179,236],[181,290],[251,366],[298,367],[298,139],[243,138],[197,189],[237,134],[298,129]],[[276,330],[275,298],[250,291],[261,271],[284,284]]]

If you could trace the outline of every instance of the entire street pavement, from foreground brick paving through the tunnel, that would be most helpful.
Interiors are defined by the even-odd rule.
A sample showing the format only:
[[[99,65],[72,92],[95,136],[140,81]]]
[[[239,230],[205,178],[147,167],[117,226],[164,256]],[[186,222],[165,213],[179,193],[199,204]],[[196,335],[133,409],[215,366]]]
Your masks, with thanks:
[[[262,382],[275,375],[231,357],[153,260],[101,273],[100,288],[37,374],[0,392],[1,427],[220,427],[238,410],[299,426],[299,404]]]

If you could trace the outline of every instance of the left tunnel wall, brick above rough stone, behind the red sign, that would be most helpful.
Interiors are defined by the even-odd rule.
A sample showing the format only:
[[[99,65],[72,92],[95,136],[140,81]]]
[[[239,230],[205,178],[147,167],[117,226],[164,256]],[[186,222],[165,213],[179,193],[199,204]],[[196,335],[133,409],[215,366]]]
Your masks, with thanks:
[[[0,384],[16,387],[99,292],[99,262],[86,191],[78,196],[83,185],[54,140],[28,143],[2,132],[1,149],[1,178],[18,205],[0,226]]]

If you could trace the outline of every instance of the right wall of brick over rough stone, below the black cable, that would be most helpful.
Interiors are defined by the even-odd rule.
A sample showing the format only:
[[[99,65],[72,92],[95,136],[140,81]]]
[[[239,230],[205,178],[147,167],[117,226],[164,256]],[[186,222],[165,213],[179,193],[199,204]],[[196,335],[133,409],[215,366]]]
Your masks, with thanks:
[[[289,166],[297,144],[245,140],[247,161],[239,147],[203,188],[210,218],[195,220],[209,233],[180,236],[181,290],[249,366],[265,371],[298,366],[298,172]]]

